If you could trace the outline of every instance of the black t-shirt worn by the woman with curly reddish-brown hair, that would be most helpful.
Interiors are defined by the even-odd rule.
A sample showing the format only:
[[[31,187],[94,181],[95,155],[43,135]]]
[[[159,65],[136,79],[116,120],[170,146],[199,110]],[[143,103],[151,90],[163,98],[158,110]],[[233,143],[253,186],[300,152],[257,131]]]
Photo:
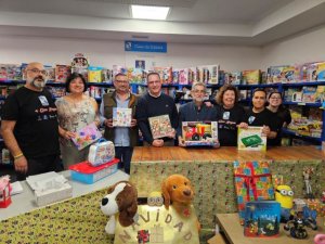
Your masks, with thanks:
[[[245,121],[246,113],[240,105],[231,110],[217,105],[218,137],[220,145],[237,145],[237,125]]]

